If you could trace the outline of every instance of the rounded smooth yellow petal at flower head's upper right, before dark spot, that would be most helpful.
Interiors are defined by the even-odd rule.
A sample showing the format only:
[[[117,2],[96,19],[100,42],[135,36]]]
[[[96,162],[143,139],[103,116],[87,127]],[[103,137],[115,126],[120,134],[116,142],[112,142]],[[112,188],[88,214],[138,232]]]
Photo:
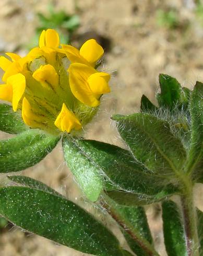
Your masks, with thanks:
[[[91,64],[95,64],[103,54],[104,50],[102,46],[94,39],[86,41],[80,48],[80,55]]]

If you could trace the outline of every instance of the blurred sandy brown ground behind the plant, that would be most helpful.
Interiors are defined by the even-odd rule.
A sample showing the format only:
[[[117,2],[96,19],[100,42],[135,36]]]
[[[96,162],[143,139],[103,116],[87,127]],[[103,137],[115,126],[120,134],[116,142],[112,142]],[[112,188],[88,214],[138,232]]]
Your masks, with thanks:
[[[200,0],[1,0],[0,10],[1,54],[25,55],[38,44],[40,32],[47,28],[56,29],[62,43],[71,42],[79,47],[87,39],[95,38],[103,46],[103,69],[112,75],[112,92],[104,97],[100,113],[87,127],[87,138],[121,144],[110,121],[111,115],[139,111],[142,94],[156,103],[154,92],[159,73],[174,76],[189,88],[197,79],[203,81],[203,2]],[[0,133],[0,138],[7,137]],[[65,166],[61,145],[38,165],[21,173],[43,181],[98,215],[94,205],[82,197]],[[7,183],[6,175],[1,174],[0,183]],[[195,197],[200,208],[202,192],[197,185]],[[146,210],[156,247],[164,256],[159,205]],[[99,214],[99,218],[125,247],[113,220],[105,213]],[[86,255],[22,232],[3,218],[0,218],[0,251],[2,256]]]

